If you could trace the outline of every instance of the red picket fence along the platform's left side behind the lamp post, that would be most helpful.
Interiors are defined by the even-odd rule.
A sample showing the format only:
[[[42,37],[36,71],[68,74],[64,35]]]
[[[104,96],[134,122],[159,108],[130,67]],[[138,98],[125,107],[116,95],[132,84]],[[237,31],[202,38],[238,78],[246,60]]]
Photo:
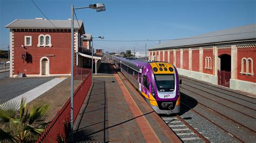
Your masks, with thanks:
[[[88,70],[88,69],[87,69]],[[82,74],[83,75],[83,74]],[[73,96],[73,121],[75,122],[84,99],[91,87],[91,71],[84,78],[83,82],[79,85]],[[70,98],[65,103],[62,109],[57,112],[57,115],[45,128],[44,132],[39,135],[37,142],[58,142],[58,140],[65,140],[66,136],[70,133],[70,111],[71,102]],[[68,141],[65,141],[68,142]]]

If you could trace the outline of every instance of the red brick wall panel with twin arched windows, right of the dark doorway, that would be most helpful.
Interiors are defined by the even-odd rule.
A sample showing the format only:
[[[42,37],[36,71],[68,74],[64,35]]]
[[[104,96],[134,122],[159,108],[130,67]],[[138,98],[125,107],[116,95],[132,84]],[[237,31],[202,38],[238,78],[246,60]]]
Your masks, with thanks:
[[[238,54],[237,54],[237,78],[238,80],[242,80],[242,81],[248,81],[248,82],[256,82],[256,48],[238,48],[237,50]],[[251,75],[244,75],[244,74],[240,74],[241,71],[241,60],[242,58],[252,58],[253,60],[253,73],[254,76]],[[244,68],[246,66],[244,65]],[[251,71],[251,67],[249,67],[249,71]],[[244,72],[246,72],[246,68],[244,70]]]

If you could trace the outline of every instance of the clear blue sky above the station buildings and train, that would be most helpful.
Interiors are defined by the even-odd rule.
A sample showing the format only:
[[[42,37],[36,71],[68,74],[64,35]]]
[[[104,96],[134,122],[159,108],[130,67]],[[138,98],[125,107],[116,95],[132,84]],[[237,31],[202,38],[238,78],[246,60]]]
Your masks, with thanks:
[[[145,51],[164,39],[178,39],[256,23],[254,0],[33,0],[48,19],[68,19],[75,8],[104,3],[106,11],[75,10],[85,33],[104,52]],[[0,0],[0,49],[9,45],[6,25],[15,19],[45,18],[32,0]],[[107,41],[110,40],[110,41]],[[144,41],[140,41],[144,40]],[[156,40],[156,41],[152,41]],[[159,41],[160,40],[160,41]],[[162,41],[161,41],[162,40]]]

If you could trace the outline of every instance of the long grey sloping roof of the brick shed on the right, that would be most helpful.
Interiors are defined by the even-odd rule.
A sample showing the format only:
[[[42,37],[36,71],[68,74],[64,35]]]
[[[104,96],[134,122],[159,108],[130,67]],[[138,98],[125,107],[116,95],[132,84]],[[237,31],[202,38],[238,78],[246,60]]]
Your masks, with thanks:
[[[221,42],[256,40],[256,24],[229,28],[193,37],[174,39],[157,45],[149,50],[164,48],[179,48],[184,46],[211,45]]]

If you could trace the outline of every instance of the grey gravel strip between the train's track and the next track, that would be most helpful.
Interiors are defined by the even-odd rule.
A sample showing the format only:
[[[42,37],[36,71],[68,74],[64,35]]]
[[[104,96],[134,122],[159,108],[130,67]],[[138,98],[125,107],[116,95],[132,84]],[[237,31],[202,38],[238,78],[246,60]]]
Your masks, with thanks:
[[[181,96],[181,101],[187,105],[193,102],[191,99],[184,98],[183,96]],[[194,109],[198,109],[198,105]],[[204,112],[202,114],[204,115]],[[238,140],[221,130],[221,128],[215,126],[196,112],[189,110],[184,104],[181,104],[180,116],[211,142],[238,142]]]

